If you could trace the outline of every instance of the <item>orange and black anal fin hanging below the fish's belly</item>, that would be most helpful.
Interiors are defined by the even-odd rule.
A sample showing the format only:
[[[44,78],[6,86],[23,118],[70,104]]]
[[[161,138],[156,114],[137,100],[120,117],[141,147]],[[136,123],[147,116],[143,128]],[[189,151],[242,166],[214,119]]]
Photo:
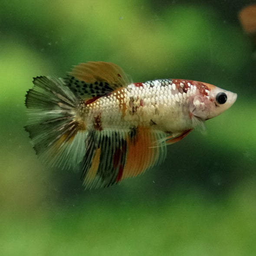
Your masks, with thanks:
[[[151,147],[166,134],[147,128],[91,131],[86,141],[82,180],[86,188],[108,187],[135,177],[166,157],[166,145]]]

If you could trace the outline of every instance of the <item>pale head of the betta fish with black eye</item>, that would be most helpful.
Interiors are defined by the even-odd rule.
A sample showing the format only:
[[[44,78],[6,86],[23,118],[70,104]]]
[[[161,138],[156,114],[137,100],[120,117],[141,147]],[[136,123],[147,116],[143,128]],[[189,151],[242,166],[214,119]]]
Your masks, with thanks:
[[[237,94],[226,91],[215,85],[203,84],[193,99],[190,112],[202,121],[216,117],[230,108],[236,101]]]

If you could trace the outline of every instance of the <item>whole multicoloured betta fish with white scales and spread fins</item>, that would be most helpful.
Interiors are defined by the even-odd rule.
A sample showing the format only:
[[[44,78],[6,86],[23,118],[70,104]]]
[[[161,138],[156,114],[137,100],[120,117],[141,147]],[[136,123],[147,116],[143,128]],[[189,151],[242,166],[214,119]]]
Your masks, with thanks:
[[[161,164],[167,145],[236,101],[236,93],[185,79],[131,82],[111,62],[85,62],[64,78],[37,76],[25,126],[40,160],[108,187]]]

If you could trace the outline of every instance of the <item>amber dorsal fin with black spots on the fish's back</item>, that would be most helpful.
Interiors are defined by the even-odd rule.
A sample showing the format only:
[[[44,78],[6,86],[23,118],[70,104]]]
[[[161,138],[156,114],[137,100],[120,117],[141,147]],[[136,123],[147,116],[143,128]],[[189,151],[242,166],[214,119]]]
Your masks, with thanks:
[[[129,80],[125,72],[113,63],[90,61],[74,66],[66,84],[83,99],[89,99],[126,87]]]

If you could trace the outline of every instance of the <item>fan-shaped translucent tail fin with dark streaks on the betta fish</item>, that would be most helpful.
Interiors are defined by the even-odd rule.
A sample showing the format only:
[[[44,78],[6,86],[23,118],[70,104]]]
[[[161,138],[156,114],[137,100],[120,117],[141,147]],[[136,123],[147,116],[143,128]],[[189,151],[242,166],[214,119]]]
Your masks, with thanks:
[[[85,154],[85,122],[79,115],[80,98],[60,78],[40,76],[26,94],[29,120],[25,126],[48,166],[75,168]]]

